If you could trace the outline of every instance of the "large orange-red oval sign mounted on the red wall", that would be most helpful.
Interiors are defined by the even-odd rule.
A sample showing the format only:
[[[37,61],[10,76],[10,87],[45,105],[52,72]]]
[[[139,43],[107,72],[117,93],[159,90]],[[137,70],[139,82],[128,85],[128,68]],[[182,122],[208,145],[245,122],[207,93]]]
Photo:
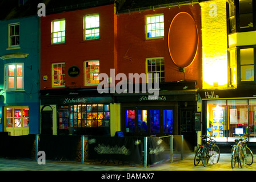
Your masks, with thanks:
[[[171,21],[168,48],[173,63],[178,68],[193,63],[198,50],[198,29],[193,17],[181,12]]]

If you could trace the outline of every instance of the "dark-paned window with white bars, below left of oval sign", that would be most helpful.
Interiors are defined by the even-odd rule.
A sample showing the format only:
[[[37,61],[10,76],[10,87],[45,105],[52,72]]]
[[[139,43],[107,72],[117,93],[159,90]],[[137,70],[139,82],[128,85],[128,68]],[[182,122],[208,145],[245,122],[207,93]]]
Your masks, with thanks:
[[[151,73],[150,77],[148,74]],[[154,77],[154,73],[158,73],[157,77]],[[163,57],[155,57],[147,59],[147,82],[164,82],[165,81],[165,59]]]

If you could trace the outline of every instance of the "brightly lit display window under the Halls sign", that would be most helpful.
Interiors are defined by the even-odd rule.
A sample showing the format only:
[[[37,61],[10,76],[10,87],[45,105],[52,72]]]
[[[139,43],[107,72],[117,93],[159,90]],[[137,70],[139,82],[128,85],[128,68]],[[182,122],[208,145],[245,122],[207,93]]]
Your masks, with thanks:
[[[255,100],[207,101],[207,134],[217,141],[234,142],[235,134],[247,134],[254,141],[255,119]]]

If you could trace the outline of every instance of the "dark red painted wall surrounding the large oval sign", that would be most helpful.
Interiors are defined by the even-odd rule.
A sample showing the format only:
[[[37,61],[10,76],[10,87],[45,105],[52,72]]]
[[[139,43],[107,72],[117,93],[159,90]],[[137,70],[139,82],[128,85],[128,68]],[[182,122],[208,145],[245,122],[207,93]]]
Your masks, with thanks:
[[[168,47],[169,27],[175,15],[181,12],[189,13],[198,28],[198,52],[185,74],[179,72],[171,60]],[[165,38],[146,40],[145,16],[150,14],[164,14]],[[189,32],[189,31],[187,31]],[[174,40],[179,43],[179,39]],[[170,7],[170,9],[155,9],[118,15],[118,72],[119,73],[146,73],[146,58],[165,57],[165,82],[179,80],[197,80],[198,87],[202,88],[202,44],[201,44],[201,9],[199,5]],[[190,50],[191,52],[191,50]],[[186,53],[186,49],[183,50]],[[131,57],[131,60],[123,56]],[[182,57],[182,56],[181,56]]]

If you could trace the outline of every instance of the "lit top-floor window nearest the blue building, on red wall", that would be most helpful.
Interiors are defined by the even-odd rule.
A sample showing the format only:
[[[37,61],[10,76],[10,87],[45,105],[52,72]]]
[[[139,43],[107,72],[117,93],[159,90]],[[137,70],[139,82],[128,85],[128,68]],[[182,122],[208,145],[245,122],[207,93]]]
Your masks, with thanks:
[[[54,32],[54,22],[65,21],[64,30],[59,30]],[[61,39],[59,42],[58,39]],[[64,38],[64,40],[62,40]],[[57,42],[54,42],[54,39],[57,39]],[[63,44],[66,42],[66,20],[65,19],[55,19],[51,21],[51,44]]]

